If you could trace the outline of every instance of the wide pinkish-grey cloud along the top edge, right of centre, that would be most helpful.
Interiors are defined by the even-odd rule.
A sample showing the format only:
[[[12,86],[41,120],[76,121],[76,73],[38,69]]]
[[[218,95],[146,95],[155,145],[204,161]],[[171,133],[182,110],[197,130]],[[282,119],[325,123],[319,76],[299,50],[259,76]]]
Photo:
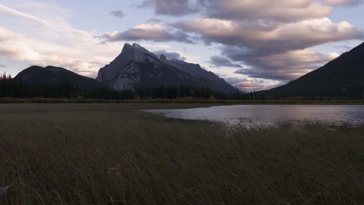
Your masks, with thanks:
[[[201,0],[205,18],[297,22],[331,15],[332,8],[314,0]]]

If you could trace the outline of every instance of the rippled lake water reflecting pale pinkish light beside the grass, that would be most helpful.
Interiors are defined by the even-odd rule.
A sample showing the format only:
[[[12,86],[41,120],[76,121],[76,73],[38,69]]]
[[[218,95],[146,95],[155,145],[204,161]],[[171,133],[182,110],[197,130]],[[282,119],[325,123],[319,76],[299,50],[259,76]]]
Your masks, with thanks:
[[[273,125],[278,122],[304,120],[323,123],[364,125],[364,105],[229,105],[192,109],[144,110],[166,117],[186,120],[208,120],[225,125],[240,123]]]

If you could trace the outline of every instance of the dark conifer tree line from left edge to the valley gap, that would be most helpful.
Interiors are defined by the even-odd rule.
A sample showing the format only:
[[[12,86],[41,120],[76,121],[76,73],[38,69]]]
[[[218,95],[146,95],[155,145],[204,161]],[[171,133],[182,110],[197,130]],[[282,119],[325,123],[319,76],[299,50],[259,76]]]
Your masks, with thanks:
[[[0,74],[0,97],[11,98],[87,98],[106,100],[138,100],[155,98],[205,98],[218,100],[265,100],[264,96],[257,96],[255,92],[241,93],[222,92],[211,89],[209,86],[174,86],[161,85],[157,87],[139,87],[136,89],[124,88],[114,90],[100,86],[99,88],[82,88],[68,78],[63,78],[59,83],[29,84],[21,77],[12,78],[11,75]]]

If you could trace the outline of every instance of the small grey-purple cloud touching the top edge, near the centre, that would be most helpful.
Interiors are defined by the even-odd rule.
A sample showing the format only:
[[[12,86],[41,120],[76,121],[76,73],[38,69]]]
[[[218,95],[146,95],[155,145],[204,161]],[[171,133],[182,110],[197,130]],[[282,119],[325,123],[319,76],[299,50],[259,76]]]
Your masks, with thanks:
[[[156,15],[185,16],[198,13],[198,4],[191,3],[190,0],[144,0],[138,8],[154,8]]]

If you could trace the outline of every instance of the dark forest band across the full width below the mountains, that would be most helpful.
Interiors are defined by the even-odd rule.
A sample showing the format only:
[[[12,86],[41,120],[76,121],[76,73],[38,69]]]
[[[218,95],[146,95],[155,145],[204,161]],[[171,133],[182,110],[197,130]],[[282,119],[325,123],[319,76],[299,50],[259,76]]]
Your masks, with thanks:
[[[21,77],[12,78],[0,74],[0,97],[10,98],[86,98],[105,100],[140,100],[140,99],[175,99],[193,97],[199,99],[216,100],[360,100],[364,99],[364,88],[358,86],[345,86],[331,89],[306,89],[302,92],[287,92],[286,95],[272,93],[265,96],[260,92],[242,93],[222,92],[213,90],[209,86],[189,85],[161,85],[157,87],[139,87],[135,89],[123,88],[114,90],[100,86],[99,88],[82,88],[68,78],[59,83],[29,84]]]

